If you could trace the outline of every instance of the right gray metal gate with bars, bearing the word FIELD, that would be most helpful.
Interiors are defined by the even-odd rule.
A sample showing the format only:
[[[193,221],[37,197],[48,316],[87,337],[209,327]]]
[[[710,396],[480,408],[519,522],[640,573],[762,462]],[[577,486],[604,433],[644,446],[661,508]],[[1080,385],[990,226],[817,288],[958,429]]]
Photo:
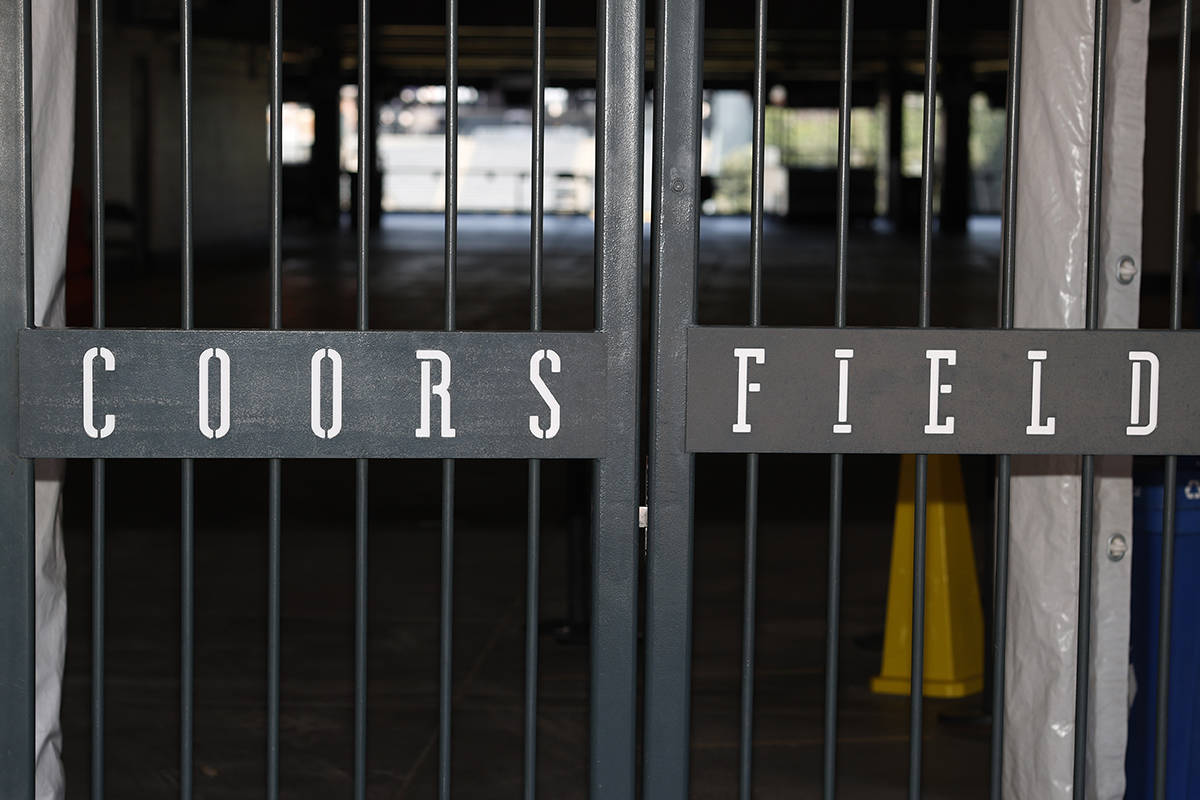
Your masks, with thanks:
[[[846,326],[850,184],[850,108],[853,0],[841,4],[838,139],[838,218],[834,329],[766,329],[762,323],[763,151],[767,106],[767,2],[755,2],[754,166],[751,168],[751,285],[749,327],[696,325],[700,90],[703,14],[698,4],[659,4],[655,62],[655,138],[652,317],[649,549],[647,563],[644,796],[688,796],[691,706],[692,453],[746,453],[745,577],[742,652],[739,796],[752,788],[755,583],[758,528],[758,453],[832,453],[828,603],[824,669],[823,796],[836,796],[839,615],[842,537],[842,455],[918,453],[913,528],[912,664],[908,796],[922,795],[922,678],[924,674],[925,530],[928,453],[997,456],[995,618],[990,793],[1002,796],[1006,615],[1009,563],[1010,456],[1082,455],[1079,564],[1093,563],[1094,457],[1168,455],[1165,486],[1174,487],[1176,455],[1200,440],[1184,410],[1183,381],[1195,368],[1181,327],[1190,2],[1180,23],[1178,125],[1175,156],[1175,239],[1168,331],[1099,331],[1098,264],[1102,235],[1108,2],[1094,4],[1086,329],[1013,330],[1016,164],[1020,132],[1024,0],[1013,0],[1004,158],[1000,311],[996,330],[930,327],[934,230],[934,134],[937,92],[938,0],[925,20],[924,119],[920,192],[919,329]],[[1043,381],[1054,362],[1056,389]],[[1170,365],[1170,366],[1168,366]],[[1169,373],[1174,377],[1168,378]],[[1049,373],[1046,373],[1049,374]],[[954,375],[953,380],[948,375]],[[1049,380],[1049,379],[1046,379]],[[1168,389],[1168,381],[1176,384]],[[1193,384],[1194,385],[1194,384]],[[1067,420],[1058,409],[1084,409]],[[1174,396],[1174,397],[1172,397]],[[953,398],[953,408],[948,405]],[[1169,410],[1170,409],[1170,410]],[[1163,511],[1162,625],[1158,631],[1156,796],[1165,796],[1170,654],[1171,554],[1175,495]],[[1082,799],[1088,732],[1092,572],[1080,570],[1075,668],[1073,796]],[[1082,687],[1082,691],[1081,688]]]

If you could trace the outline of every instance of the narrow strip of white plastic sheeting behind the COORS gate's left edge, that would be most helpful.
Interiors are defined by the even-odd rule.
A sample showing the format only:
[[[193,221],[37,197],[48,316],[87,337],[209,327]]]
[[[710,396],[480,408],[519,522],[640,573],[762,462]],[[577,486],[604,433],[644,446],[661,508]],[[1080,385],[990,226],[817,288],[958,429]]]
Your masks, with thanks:
[[[67,221],[74,140],[76,2],[32,2],[34,321],[61,327]],[[36,796],[64,796],[62,732],[59,706],[66,650],[67,587],[62,553],[62,462],[36,467]]]

